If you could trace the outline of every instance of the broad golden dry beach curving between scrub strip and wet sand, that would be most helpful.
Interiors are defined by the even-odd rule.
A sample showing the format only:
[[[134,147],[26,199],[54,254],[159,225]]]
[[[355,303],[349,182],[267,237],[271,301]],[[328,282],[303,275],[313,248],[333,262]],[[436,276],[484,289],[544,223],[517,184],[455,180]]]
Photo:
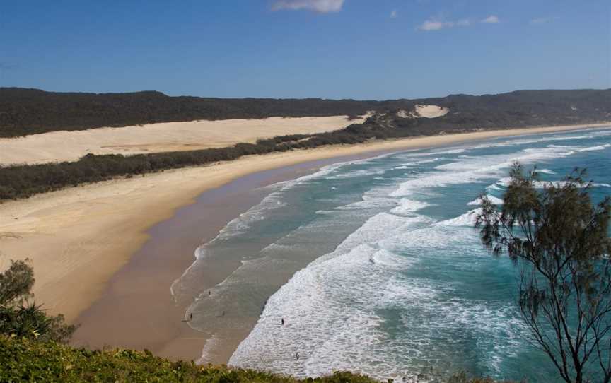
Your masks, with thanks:
[[[50,312],[63,313],[69,321],[75,322],[78,316],[94,302],[109,296],[107,289],[113,276],[118,278],[115,279],[115,283],[122,283],[117,271],[135,267],[132,261],[136,262],[136,257],[132,258],[132,255],[142,249],[143,245],[146,246],[147,240],[151,237],[149,230],[154,225],[172,218],[178,208],[193,204],[202,192],[219,188],[240,177],[279,167],[347,155],[426,148],[493,137],[598,126],[608,126],[608,124],[482,131],[272,153],[206,167],[116,179],[42,194],[26,200],[8,201],[0,204],[0,269],[6,268],[9,259],[30,258],[35,269],[36,301],[44,302]],[[316,166],[320,164],[302,168],[300,171],[312,171]],[[291,171],[295,172],[295,170]],[[272,179],[273,177],[270,176],[268,181],[271,182]],[[208,220],[202,222],[202,225],[205,224],[204,226],[209,230],[204,237],[214,235],[228,220],[240,213],[240,208],[245,210],[248,208],[246,205],[251,201],[254,204],[256,199],[257,194],[253,194],[248,198],[245,197],[244,206],[238,206],[235,210],[226,211],[224,214],[211,214]],[[178,225],[178,221],[175,223]],[[163,227],[160,228],[156,230],[163,231]],[[152,235],[154,237],[154,234]],[[197,247],[198,241],[202,240],[202,234],[198,234],[199,237],[194,234],[190,236],[191,242],[185,241],[185,243],[194,243]],[[169,286],[185,269],[184,263],[186,262],[188,266],[192,261],[194,247],[183,250],[191,259],[187,257],[174,266],[168,266],[167,259],[172,254],[160,253],[160,261],[151,263],[153,266],[147,268],[147,272],[151,273],[149,276],[151,278],[155,276],[151,281],[161,287],[158,290],[152,289],[148,294],[146,292],[142,294],[149,299],[149,302],[141,302],[143,307],[156,305],[160,312],[171,311],[170,314],[178,314],[179,319],[182,317],[182,313],[176,309],[170,299]],[[144,288],[151,281],[139,280],[139,285]],[[134,285],[132,288],[135,288]],[[163,290],[167,292],[168,299],[158,296]],[[129,288],[124,291],[129,291]],[[115,294],[120,295],[117,291]],[[81,317],[83,318],[85,317]],[[98,321],[103,319],[97,318]],[[194,331],[177,333],[175,329],[163,326],[165,326],[163,321],[156,322],[154,331],[158,336],[149,336],[150,326],[135,326],[139,334],[133,335],[144,340],[138,343],[142,348],[150,348],[162,355],[177,358],[198,357],[199,351],[197,353],[193,351],[201,346],[201,335],[194,334]],[[193,338],[192,346],[183,347],[185,345],[182,343],[173,343],[177,334],[185,339]],[[129,334],[125,334],[127,335]],[[150,338],[151,342],[146,343],[146,338]],[[110,337],[108,339],[110,340]],[[123,342],[123,344],[128,343],[129,340]],[[108,341],[107,344],[115,343]]]

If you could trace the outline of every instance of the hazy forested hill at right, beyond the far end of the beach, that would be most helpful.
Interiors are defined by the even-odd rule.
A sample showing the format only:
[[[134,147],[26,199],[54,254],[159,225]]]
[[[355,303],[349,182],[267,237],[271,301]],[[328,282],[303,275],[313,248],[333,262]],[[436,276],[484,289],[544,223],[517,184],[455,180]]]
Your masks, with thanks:
[[[436,118],[414,118],[410,110],[389,110],[353,124],[347,131],[374,134],[378,139],[460,133],[530,126],[593,124],[611,121],[611,89],[518,90],[499,95],[449,95],[414,100],[439,105],[448,113]]]

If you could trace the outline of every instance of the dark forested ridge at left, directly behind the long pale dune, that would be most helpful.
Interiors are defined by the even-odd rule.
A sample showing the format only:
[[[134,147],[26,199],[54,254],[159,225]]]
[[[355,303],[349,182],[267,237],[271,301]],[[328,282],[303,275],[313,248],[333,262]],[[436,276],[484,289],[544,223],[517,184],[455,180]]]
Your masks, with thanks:
[[[320,98],[170,97],[161,92],[57,93],[0,88],[0,136],[196,119],[315,117],[364,114],[381,102]]]

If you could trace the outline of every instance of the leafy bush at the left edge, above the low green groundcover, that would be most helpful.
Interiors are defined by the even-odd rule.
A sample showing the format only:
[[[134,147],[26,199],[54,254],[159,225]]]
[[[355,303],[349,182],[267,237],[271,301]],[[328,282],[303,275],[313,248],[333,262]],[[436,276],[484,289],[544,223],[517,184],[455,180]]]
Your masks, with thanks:
[[[69,341],[75,326],[65,324],[61,314],[52,317],[40,305],[30,302],[33,285],[34,271],[24,261],[11,261],[11,266],[0,273],[0,335]]]

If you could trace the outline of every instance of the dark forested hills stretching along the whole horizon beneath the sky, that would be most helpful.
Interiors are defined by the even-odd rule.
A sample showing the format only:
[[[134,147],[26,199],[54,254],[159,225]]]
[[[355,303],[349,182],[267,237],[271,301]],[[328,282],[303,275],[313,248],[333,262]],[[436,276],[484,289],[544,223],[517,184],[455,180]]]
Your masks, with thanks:
[[[397,118],[416,105],[438,105],[434,119]],[[195,119],[320,117],[378,112],[376,121],[428,129],[578,124],[611,119],[611,89],[520,90],[499,95],[450,95],[417,100],[324,100],[170,97],[160,92],[56,93],[0,88],[0,137]],[[404,111],[404,112],[402,112]],[[407,114],[405,114],[407,112]],[[398,114],[397,114],[398,113]],[[379,117],[385,114],[382,121]],[[394,116],[394,117],[390,117]]]

